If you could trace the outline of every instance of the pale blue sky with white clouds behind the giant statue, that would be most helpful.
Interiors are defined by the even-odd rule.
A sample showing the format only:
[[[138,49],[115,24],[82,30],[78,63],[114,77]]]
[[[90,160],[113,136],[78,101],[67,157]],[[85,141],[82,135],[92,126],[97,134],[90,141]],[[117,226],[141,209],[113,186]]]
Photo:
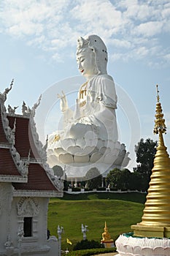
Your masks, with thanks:
[[[15,79],[6,105],[21,107],[25,100],[31,107],[42,94],[36,125],[43,141],[61,118],[57,92],[64,89],[74,105],[82,83],[75,58],[77,38],[89,34],[98,34],[107,45],[108,73],[117,85],[120,142],[130,157],[134,159],[140,138],[158,139],[152,135],[156,84],[170,151],[170,1],[1,0],[0,91]],[[45,124],[37,117],[42,112]]]

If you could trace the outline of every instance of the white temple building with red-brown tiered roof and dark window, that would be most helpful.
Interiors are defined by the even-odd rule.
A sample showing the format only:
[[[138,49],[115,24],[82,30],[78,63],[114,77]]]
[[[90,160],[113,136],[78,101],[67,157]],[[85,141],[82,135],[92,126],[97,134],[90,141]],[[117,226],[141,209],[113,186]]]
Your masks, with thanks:
[[[63,196],[63,184],[46,163],[32,109],[23,114],[4,102],[12,89],[0,93],[0,255],[58,255],[57,238],[47,239],[50,197]]]

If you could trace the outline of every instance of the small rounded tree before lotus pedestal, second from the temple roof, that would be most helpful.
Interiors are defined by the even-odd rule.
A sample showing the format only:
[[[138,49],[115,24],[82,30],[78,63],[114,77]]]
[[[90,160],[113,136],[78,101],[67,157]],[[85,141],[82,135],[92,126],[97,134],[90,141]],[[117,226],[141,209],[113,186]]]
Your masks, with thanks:
[[[91,189],[97,189],[101,186],[101,179],[102,176],[99,172],[99,170],[96,167],[90,168],[88,172],[85,175],[86,181],[86,187]]]

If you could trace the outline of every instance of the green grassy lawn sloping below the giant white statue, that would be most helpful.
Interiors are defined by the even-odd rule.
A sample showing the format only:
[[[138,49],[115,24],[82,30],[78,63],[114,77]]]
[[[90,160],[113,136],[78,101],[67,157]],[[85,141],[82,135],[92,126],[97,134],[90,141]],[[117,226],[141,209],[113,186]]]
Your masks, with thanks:
[[[134,200],[134,202],[133,202]],[[64,194],[62,199],[53,198],[49,203],[48,228],[57,236],[58,225],[63,226],[62,249],[72,249],[82,240],[81,225],[88,225],[88,240],[101,240],[104,222],[112,238],[131,231],[131,225],[141,221],[145,195],[139,193],[92,193]],[[140,202],[140,203],[137,203]],[[66,238],[73,245],[66,244]]]

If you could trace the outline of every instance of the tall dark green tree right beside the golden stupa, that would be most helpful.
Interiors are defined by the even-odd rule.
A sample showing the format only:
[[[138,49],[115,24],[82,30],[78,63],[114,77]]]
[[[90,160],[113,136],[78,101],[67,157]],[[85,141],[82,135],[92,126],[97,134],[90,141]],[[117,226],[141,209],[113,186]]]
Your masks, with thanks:
[[[150,175],[152,173],[153,159],[156,153],[157,141],[150,138],[144,141],[142,138],[135,146],[136,162],[139,163],[134,167],[134,173],[140,173],[142,178],[142,190],[147,190],[150,183]]]

